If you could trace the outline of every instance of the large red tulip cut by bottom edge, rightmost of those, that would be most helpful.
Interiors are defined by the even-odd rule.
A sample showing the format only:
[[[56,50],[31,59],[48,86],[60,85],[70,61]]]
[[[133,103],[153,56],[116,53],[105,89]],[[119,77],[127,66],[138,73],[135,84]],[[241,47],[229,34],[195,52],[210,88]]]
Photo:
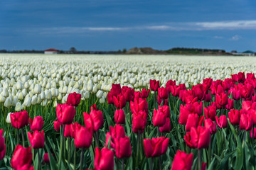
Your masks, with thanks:
[[[186,154],[186,152],[178,150],[174,156],[174,162],[171,170],[191,170],[193,165],[193,153]]]

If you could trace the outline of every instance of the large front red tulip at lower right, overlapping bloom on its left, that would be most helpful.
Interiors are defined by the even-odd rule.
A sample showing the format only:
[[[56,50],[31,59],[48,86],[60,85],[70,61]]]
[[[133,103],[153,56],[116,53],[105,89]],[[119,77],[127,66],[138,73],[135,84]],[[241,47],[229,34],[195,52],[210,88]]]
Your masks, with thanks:
[[[193,147],[202,149],[208,147],[210,143],[210,131],[202,126],[191,128],[191,143]]]

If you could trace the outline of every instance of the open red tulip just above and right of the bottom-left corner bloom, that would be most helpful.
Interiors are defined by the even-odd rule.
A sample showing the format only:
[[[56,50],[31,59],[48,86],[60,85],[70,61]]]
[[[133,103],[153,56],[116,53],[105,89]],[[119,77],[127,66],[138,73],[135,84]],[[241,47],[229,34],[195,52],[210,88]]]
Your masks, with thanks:
[[[28,132],[28,139],[31,143],[31,146],[33,149],[39,149],[44,147],[44,132],[39,132],[38,130],[35,130],[33,132],[33,135],[31,135],[31,132]]]

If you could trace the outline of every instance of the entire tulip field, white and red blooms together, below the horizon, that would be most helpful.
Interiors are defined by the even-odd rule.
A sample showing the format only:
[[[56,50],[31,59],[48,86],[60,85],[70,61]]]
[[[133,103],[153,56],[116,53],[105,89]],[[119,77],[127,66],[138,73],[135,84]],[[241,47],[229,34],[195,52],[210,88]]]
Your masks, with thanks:
[[[0,60],[0,169],[255,169],[253,57]]]

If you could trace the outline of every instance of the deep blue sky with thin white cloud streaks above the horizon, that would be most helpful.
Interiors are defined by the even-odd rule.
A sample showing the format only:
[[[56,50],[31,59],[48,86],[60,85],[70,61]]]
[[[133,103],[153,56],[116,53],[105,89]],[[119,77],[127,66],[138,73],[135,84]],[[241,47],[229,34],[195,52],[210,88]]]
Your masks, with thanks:
[[[0,49],[256,51],[256,1],[0,1]]]

